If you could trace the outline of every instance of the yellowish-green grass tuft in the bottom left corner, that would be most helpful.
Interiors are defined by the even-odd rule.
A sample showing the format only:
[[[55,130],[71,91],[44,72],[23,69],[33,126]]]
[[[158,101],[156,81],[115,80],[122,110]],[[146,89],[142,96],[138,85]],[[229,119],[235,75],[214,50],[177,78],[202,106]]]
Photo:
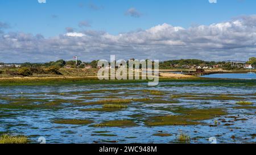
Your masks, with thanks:
[[[0,144],[27,144],[27,136],[11,136],[11,135],[1,135]]]

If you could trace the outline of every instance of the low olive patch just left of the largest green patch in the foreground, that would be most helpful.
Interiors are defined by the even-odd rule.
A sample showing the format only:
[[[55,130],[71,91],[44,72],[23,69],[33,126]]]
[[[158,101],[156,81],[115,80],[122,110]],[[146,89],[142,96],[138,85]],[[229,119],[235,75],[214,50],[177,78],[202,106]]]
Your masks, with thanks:
[[[109,120],[100,124],[94,124],[92,127],[135,127],[137,126],[132,120]]]

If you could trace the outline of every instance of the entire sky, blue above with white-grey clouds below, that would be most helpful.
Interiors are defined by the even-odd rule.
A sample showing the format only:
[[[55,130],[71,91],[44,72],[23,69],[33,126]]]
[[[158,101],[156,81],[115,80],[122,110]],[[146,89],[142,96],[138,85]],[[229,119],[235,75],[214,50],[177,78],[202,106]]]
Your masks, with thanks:
[[[0,62],[256,56],[255,0],[0,1]]]

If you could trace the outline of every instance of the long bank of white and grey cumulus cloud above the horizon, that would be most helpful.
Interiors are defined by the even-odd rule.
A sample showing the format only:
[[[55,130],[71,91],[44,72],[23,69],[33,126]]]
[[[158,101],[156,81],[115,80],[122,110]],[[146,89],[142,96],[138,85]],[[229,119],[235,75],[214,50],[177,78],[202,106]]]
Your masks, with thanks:
[[[80,31],[45,38],[22,32],[0,33],[1,61],[52,61],[77,55],[83,61],[109,58],[247,60],[256,55],[256,15],[189,28],[159,24],[148,30],[112,35]]]

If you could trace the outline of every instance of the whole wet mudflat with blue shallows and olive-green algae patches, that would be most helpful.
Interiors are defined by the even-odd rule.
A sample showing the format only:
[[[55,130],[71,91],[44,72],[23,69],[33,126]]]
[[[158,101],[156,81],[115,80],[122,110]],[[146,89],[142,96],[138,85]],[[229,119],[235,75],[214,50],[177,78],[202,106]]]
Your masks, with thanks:
[[[256,80],[0,87],[0,135],[28,143],[255,143]]]

